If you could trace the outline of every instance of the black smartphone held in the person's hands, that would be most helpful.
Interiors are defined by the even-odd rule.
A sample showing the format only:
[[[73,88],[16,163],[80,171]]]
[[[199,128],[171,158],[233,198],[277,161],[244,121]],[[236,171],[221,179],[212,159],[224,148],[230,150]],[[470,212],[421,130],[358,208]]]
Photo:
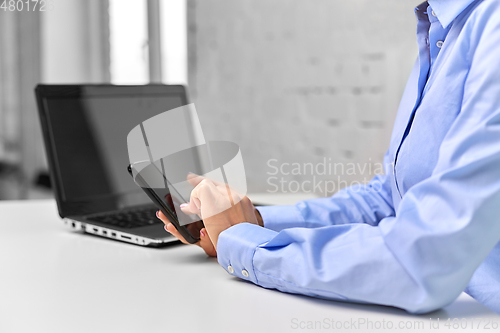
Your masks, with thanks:
[[[189,224],[181,225],[179,218],[175,213],[175,206],[180,205],[178,195],[170,193],[168,186],[163,187],[150,187],[148,182],[142,177],[141,173],[134,174],[132,172],[132,166],[129,165],[128,173],[134,179],[134,182],[142,188],[146,195],[151,199],[155,206],[170,220],[174,225],[175,229],[184,237],[184,239],[190,243],[195,244],[200,240],[200,230],[205,227],[202,220],[198,220]],[[167,180],[165,179],[165,184]],[[175,206],[174,206],[175,205]]]

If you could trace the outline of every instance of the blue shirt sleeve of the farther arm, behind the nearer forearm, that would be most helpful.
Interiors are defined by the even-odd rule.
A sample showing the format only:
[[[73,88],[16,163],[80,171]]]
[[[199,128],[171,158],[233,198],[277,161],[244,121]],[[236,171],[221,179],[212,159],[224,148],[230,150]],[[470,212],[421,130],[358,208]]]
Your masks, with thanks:
[[[390,174],[389,154],[384,157]],[[366,185],[345,188],[329,198],[300,201],[291,206],[257,207],[267,229],[318,228],[334,224],[368,223],[377,225],[394,215],[390,178],[379,175]]]

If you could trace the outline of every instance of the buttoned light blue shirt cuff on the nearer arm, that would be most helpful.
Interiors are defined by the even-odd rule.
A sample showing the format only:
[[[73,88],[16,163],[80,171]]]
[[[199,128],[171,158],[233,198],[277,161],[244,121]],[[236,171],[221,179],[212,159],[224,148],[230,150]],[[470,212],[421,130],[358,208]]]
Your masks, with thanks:
[[[217,260],[231,275],[257,284],[253,256],[257,248],[277,235],[275,231],[251,223],[224,230],[217,241]]]

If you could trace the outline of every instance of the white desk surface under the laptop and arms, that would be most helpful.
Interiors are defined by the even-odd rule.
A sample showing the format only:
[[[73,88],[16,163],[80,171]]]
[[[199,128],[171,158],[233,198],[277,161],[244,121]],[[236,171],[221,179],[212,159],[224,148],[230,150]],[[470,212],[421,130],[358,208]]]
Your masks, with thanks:
[[[442,310],[412,316],[266,290],[231,277],[195,246],[151,249],[77,234],[63,227],[53,201],[0,202],[2,333],[297,332],[308,321],[358,318],[393,327],[423,321],[425,329],[404,331],[425,332],[429,317],[440,318],[448,332],[447,318],[500,323],[465,294]],[[470,321],[468,327],[459,331],[480,331]]]

